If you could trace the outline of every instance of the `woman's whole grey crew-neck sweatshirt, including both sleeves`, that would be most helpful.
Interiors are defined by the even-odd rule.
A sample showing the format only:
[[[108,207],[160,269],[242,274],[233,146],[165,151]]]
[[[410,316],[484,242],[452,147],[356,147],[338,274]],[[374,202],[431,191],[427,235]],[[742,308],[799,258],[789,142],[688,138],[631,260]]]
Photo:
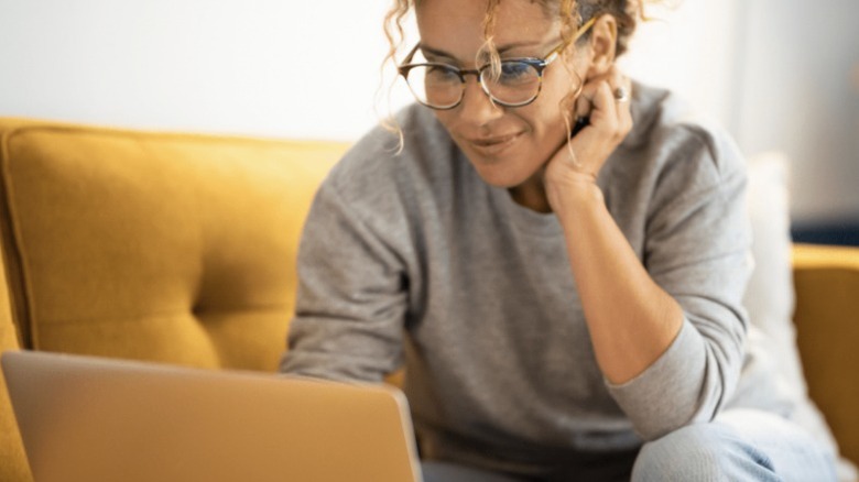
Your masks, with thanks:
[[[633,130],[598,184],[685,314],[643,373],[622,385],[600,373],[557,218],[487,185],[417,106],[399,116],[401,154],[377,129],[322,185],[283,371],[381,381],[405,363],[425,453],[486,467],[631,450],[729,403],[782,410],[766,376],[737,390],[753,365],[743,160],[668,92],[634,92]]]

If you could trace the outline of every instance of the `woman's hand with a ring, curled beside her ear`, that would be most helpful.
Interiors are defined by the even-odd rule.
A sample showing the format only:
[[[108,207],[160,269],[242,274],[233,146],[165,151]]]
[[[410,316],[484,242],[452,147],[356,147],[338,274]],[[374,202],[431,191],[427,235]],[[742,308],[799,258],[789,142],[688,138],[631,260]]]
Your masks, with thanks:
[[[589,117],[590,123],[565,142],[546,165],[544,182],[553,210],[561,208],[564,191],[595,185],[606,160],[632,129],[631,95],[631,81],[615,66],[581,88],[574,116]]]

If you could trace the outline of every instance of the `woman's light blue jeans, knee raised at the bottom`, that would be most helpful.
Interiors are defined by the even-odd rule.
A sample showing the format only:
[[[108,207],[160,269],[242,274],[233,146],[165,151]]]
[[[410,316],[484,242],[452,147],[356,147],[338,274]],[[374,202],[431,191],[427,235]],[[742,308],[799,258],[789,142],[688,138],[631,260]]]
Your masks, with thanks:
[[[834,454],[791,421],[751,409],[727,410],[713,423],[691,425],[645,443],[631,471],[637,482],[836,480]],[[444,462],[424,462],[423,472],[424,482],[605,480],[575,469],[521,479]]]

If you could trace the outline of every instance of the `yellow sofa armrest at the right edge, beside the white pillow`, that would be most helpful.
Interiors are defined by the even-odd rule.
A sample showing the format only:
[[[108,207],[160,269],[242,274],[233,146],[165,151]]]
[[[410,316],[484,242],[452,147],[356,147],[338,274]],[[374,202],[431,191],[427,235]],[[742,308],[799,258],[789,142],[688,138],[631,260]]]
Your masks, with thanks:
[[[859,248],[795,244],[797,344],[808,394],[841,454],[859,462]]]

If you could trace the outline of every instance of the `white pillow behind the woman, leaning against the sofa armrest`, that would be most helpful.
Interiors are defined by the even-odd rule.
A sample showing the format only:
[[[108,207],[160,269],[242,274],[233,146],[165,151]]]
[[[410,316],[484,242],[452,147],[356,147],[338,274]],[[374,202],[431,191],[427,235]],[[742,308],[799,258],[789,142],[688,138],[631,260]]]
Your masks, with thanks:
[[[754,271],[743,304],[752,325],[750,339],[763,338],[763,342],[751,342],[768,352],[779,371],[780,388],[796,402],[794,420],[837,453],[826,421],[808,398],[796,349],[787,157],[778,152],[759,154],[749,160],[748,174],[747,205],[752,224]],[[760,333],[754,333],[754,328]],[[845,460],[839,463],[838,474],[841,481],[856,480],[855,469]]]

